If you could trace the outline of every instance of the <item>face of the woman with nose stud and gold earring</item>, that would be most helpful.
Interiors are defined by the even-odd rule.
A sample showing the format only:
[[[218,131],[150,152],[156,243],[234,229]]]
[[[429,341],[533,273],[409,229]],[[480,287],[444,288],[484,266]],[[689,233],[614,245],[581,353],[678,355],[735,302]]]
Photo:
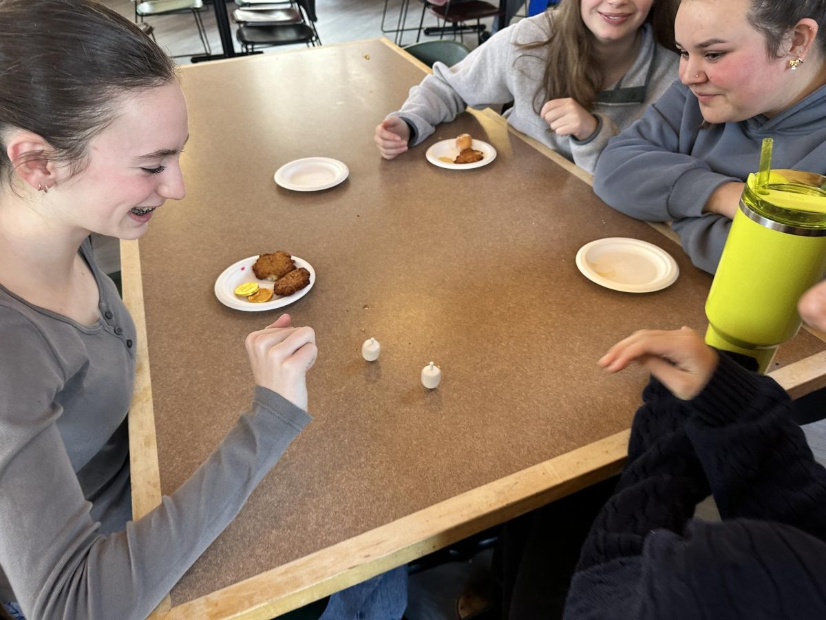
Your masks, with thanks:
[[[684,0],[677,11],[680,79],[708,122],[771,117],[794,102],[788,57],[769,57],[765,36],[748,21],[750,5],[750,0]]]

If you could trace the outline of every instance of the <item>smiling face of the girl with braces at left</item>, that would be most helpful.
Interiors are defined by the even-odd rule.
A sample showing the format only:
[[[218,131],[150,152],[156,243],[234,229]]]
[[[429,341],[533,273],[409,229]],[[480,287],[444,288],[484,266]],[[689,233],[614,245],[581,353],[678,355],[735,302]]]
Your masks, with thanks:
[[[146,231],[154,209],[186,191],[179,156],[188,137],[178,83],[128,92],[119,116],[88,145],[88,165],[59,180],[55,193],[68,224],[121,239]]]

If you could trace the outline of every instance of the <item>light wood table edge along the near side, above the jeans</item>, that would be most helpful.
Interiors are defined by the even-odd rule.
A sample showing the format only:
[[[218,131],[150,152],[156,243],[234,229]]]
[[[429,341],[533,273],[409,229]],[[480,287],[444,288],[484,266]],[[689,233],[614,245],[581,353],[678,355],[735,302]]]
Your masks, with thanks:
[[[628,438],[629,431],[605,437],[178,605],[165,618],[253,619],[286,613],[618,473]]]

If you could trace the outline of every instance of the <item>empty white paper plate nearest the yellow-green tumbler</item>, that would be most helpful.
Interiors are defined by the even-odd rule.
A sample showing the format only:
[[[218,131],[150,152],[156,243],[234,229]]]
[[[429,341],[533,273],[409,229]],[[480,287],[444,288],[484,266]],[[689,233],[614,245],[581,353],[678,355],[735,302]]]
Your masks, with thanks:
[[[665,289],[680,274],[666,250],[648,241],[616,236],[582,246],[577,252],[577,267],[591,282],[624,293]]]

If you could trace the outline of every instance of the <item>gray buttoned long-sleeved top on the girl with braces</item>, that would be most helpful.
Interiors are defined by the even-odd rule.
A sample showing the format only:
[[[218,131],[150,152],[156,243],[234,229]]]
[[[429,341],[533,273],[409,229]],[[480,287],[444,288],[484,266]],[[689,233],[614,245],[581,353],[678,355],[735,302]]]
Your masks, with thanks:
[[[310,417],[256,388],[192,477],[131,521],[135,326],[88,241],[82,254],[100,291],[93,326],[0,285],[0,600],[27,618],[145,618]]]

